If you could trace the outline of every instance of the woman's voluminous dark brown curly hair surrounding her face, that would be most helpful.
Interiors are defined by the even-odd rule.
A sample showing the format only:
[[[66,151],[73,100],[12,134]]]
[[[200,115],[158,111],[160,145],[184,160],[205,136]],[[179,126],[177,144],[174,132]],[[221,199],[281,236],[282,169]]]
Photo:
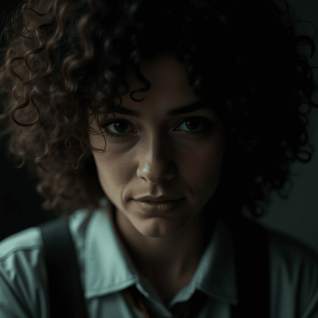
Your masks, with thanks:
[[[313,66],[300,52],[310,45],[312,57],[315,44],[296,36],[284,3],[285,10],[271,0],[22,2],[4,29],[1,134],[10,136],[7,156],[22,160],[17,168],[30,162],[36,170],[42,208],[65,218],[99,206],[105,194],[87,109],[95,118],[111,112],[119,85],[129,92],[128,66],[145,86],[136,91],[149,90],[140,63],[166,52],[225,130],[222,177],[209,204],[230,216],[247,207],[257,217],[273,190],[287,198],[290,164],[311,160],[307,115],[317,105]]]

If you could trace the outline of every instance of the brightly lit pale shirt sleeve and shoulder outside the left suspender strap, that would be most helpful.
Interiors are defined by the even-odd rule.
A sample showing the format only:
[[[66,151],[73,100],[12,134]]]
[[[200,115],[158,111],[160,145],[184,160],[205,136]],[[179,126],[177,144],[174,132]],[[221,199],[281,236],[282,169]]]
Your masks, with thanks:
[[[0,317],[47,318],[47,276],[39,228],[0,242]]]

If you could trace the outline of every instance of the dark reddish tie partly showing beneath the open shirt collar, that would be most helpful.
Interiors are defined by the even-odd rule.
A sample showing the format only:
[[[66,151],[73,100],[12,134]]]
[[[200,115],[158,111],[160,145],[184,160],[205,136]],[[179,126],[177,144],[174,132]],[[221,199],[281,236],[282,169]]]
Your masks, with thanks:
[[[130,286],[122,291],[128,304],[142,312],[142,318],[166,318],[162,316],[156,316],[147,310],[146,304],[149,300],[139,292],[135,285]],[[176,303],[172,308],[171,312],[173,318],[193,318],[203,307],[207,301],[208,296],[199,290],[196,290],[189,301]]]

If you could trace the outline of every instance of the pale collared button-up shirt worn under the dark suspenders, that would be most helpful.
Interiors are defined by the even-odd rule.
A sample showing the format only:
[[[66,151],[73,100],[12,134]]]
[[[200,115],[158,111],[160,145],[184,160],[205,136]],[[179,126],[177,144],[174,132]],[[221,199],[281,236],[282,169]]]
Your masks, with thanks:
[[[187,301],[196,289],[209,296],[198,318],[230,318],[237,304],[231,231],[218,221],[189,285],[166,307],[156,290],[139,276],[118,241],[108,209],[94,211],[82,231],[87,210],[69,217],[89,318],[142,318],[121,291],[136,288],[149,299],[158,316],[172,317],[170,309]],[[284,235],[269,232],[271,318],[318,317],[318,255]],[[47,277],[43,241],[31,227],[0,242],[0,317],[46,318]]]

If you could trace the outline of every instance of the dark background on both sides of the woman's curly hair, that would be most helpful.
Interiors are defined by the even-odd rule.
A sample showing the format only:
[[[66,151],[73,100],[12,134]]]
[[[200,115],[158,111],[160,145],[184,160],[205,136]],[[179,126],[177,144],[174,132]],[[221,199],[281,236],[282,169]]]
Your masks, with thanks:
[[[292,6],[291,13],[295,20],[310,21],[318,29],[317,0],[287,1]],[[10,1],[10,4],[0,3],[0,33],[6,17],[19,3],[17,0]],[[314,26],[306,22],[300,24],[297,32],[311,38],[315,36]],[[314,41],[316,52],[310,64],[318,66],[318,34]],[[2,37],[0,46],[4,43]],[[309,51],[305,49],[305,52]],[[314,78],[318,83],[317,69],[314,69]],[[314,100],[318,103],[317,92]],[[292,236],[318,252],[318,109],[313,109],[309,114],[308,134],[309,142],[315,149],[311,162],[296,162],[292,165],[292,172],[297,176],[292,177],[294,188],[289,199],[282,200],[274,192],[271,196],[272,204],[259,223]],[[55,218],[52,211],[44,211],[40,207],[44,199],[35,190],[38,183],[36,176],[30,175],[24,167],[15,169],[15,164],[20,162],[14,163],[5,157],[5,141],[6,138],[3,138],[0,142],[0,241],[11,234]]]

